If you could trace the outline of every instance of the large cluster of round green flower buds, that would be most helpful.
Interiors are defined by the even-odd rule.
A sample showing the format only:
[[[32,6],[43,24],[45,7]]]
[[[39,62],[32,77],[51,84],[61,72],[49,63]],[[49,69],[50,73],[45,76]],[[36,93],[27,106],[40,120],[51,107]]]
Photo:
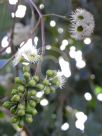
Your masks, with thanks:
[[[29,66],[25,66],[23,76],[23,79],[15,78],[16,88],[12,90],[11,98],[3,104],[13,115],[12,123],[16,123],[19,127],[23,127],[24,122],[32,123],[33,116],[37,114],[36,105],[40,102],[36,96],[37,92],[50,94],[61,85],[54,70],[48,70],[45,79],[42,80],[39,76],[31,76]]]

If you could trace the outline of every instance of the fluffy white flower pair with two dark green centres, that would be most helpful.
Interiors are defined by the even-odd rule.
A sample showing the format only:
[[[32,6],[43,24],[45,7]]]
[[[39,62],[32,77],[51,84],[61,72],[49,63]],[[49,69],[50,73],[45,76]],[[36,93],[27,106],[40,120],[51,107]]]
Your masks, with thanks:
[[[71,15],[71,29],[72,37],[76,40],[82,40],[90,36],[95,27],[93,15],[85,9],[76,9]]]

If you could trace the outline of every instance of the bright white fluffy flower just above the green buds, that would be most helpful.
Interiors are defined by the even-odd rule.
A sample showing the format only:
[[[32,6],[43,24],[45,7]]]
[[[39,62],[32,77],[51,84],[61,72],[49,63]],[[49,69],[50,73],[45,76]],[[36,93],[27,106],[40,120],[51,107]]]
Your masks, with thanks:
[[[28,64],[37,63],[39,60],[39,51],[34,45],[32,45],[31,39],[29,39],[26,44],[18,49],[13,64],[16,66],[19,62],[27,62]]]

